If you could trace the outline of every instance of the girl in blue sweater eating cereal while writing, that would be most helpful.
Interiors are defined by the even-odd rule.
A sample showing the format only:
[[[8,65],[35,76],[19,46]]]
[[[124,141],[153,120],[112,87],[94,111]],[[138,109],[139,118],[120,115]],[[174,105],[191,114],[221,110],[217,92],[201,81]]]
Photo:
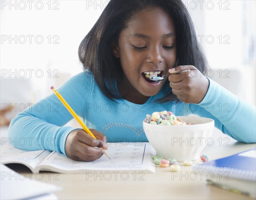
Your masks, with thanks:
[[[212,118],[223,133],[256,142],[256,125],[250,123],[255,107],[203,75],[206,59],[193,36],[181,0],[111,0],[79,46],[84,72],[58,89],[97,139],[64,127],[72,116],[54,94],[12,120],[10,139],[26,139],[25,145],[15,143],[17,148],[92,161],[107,149],[106,137],[108,142],[147,142],[145,115],[170,110],[177,116]],[[172,74],[183,70],[190,71]],[[172,75],[155,83],[147,73]],[[44,108],[40,112],[39,105]]]

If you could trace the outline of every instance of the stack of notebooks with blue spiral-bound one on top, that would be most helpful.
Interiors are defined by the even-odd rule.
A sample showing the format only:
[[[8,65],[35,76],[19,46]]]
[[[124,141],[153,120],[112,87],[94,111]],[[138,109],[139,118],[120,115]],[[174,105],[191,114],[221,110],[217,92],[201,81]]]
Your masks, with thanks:
[[[207,183],[256,198],[256,148],[193,166],[212,174]]]

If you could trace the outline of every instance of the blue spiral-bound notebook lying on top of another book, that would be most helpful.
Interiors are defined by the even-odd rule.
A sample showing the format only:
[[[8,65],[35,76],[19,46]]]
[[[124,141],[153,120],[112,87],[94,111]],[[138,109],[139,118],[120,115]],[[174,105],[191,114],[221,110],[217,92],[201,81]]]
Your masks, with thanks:
[[[230,178],[256,181],[256,148],[193,166],[196,171],[228,175]],[[224,174],[225,173],[225,174]]]

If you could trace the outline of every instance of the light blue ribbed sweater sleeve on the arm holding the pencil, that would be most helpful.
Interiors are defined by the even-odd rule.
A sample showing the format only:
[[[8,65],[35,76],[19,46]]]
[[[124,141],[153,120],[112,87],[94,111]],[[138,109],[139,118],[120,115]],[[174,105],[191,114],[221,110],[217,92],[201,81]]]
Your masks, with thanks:
[[[91,75],[82,72],[58,88],[58,92],[79,116],[90,95],[90,83]],[[10,143],[24,150],[46,149],[66,155],[67,136],[76,128],[64,125],[72,118],[57,96],[52,94],[12,119],[8,131]]]

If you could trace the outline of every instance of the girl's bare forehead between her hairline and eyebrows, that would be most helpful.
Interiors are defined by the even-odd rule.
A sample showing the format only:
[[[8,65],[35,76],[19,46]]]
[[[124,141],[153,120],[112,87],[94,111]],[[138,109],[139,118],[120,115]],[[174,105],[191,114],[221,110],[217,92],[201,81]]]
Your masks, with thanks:
[[[172,18],[160,8],[153,7],[138,11],[128,21],[127,28],[123,31],[134,33],[151,33],[152,35],[163,35],[169,32],[175,33]]]

